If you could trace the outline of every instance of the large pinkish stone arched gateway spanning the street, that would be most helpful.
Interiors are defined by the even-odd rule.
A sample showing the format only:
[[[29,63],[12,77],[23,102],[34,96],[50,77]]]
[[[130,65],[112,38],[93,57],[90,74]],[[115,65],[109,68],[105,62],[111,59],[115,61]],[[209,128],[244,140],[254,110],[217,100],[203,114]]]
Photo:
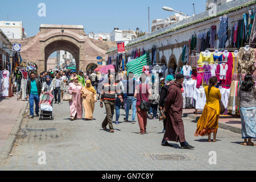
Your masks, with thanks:
[[[76,60],[76,71],[86,70],[89,64],[97,64],[97,56],[106,59],[106,51],[95,46],[81,25],[41,24],[37,35],[25,39],[12,39],[22,44],[22,59],[38,65],[38,71],[47,70],[47,59],[51,53],[63,50],[70,52]]]

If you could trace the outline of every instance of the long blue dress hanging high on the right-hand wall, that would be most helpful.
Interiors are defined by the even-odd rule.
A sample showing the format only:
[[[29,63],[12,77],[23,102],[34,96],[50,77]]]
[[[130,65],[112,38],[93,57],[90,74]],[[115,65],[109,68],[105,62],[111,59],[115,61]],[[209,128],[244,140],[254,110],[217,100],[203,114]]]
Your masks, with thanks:
[[[218,48],[225,48],[226,41],[228,40],[228,16],[220,17],[220,28],[218,29],[217,35],[220,41]]]

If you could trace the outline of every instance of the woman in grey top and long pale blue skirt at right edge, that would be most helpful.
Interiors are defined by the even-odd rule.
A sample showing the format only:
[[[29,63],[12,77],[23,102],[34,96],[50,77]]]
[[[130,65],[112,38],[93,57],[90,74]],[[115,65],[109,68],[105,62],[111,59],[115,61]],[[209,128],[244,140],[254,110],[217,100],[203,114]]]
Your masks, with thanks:
[[[256,89],[253,76],[245,75],[244,81],[238,88],[238,100],[240,101],[240,116],[242,124],[242,138],[244,146],[254,146],[251,139],[256,135]],[[248,142],[247,142],[248,139]]]

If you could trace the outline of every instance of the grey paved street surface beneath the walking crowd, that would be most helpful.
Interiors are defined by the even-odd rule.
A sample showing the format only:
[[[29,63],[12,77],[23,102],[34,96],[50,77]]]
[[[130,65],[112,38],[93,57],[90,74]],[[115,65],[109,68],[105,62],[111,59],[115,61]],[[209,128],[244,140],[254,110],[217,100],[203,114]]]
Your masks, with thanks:
[[[195,150],[181,149],[179,143],[175,142],[174,147],[161,146],[163,123],[158,119],[148,121],[148,134],[145,135],[138,134],[138,123],[113,124],[114,133],[104,131],[101,129],[101,122],[105,117],[105,107],[102,109],[99,102],[94,110],[93,121],[69,121],[68,102],[53,104],[53,110],[54,121],[39,121],[38,117],[24,118],[11,152],[13,156],[1,161],[1,170],[256,169],[256,147],[241,146],[240,134],[219,129],[218,141],[206,142],[207,137],[194,137],[196,123],[188,118],[183,118],[185,137],[189,144],[195,146]],[[121,119],[124,114],[124,110],[121,110]],[[39,151],[46,152],[45,165],[38,164]],[[216,165],[208,162],[210,151],[216,151]],[[183,155],[184,158],[158,160],[159,158],[152,157],[154,154]]]

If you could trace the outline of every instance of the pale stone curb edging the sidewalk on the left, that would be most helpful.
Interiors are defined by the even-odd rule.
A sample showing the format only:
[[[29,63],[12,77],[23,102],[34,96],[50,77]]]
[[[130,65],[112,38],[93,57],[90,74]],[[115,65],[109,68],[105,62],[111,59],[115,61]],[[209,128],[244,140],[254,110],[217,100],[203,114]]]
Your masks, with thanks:
[[[16,142],[16,137],[22,125],[22,121],[23,121],[27,106],[28,106],[28,102],[23,104],[22,109],[20,110],[20,114],[16,118],[16,121],[14,123],[13,129],[11,129],[11,132],[5,142],[5,145],[1,150],[0,159],[7,159],[8,156],[10,155],[11,150],[13,150],[13,146],[14,146],[14,143]]]

